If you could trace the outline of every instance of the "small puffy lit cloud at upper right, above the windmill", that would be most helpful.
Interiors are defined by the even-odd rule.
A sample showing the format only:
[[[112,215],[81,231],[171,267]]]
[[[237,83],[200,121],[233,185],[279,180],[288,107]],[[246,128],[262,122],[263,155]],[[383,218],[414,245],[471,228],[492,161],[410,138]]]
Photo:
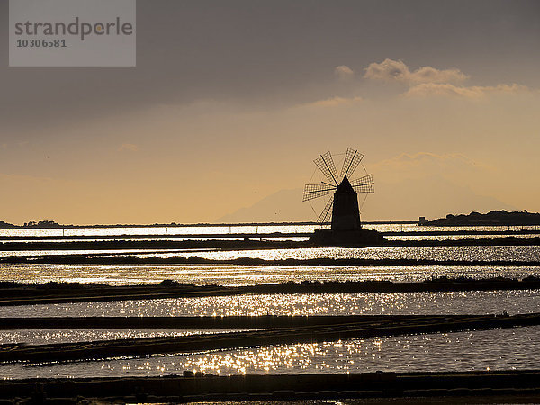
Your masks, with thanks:
[[[435,67],[419,67],[410,71],[402,60],[384,59],[381,63],[371,63],[365,69],[365,78],[372,80],[397,81],[406,85],[420,83],[461,83],[468,78],[461,70],[451,68],[440,70]]]

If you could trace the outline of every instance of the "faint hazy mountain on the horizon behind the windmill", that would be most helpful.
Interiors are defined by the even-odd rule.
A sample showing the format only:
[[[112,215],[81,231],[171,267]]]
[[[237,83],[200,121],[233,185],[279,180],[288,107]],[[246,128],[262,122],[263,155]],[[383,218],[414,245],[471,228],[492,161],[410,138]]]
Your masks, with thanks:
[[[363,196],[360,197],[363,202]],[[317,210],[322,208],[317,207]],[[375,193],[369,194],[362,220],[418,220],[440,218],[447,212],[507,210],[517,208],[500,200],[474,193],[468,187],[451,183],[440,176],[385,183],[375,178]],[[316,220],[308,202],[302,202],[302,188],[280,190],[250,207],[217,219],[218,222],[273,222]]]

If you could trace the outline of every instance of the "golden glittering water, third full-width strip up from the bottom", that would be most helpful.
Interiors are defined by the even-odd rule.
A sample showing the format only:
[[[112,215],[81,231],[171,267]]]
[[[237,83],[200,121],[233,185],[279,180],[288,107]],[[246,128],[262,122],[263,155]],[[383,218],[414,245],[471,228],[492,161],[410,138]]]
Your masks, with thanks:
[[[540,275],[540,266],[237,266],[237,265],[8,265],[0,282],[253,285],[308,281],[424,281],[430,277],[523,278]]]

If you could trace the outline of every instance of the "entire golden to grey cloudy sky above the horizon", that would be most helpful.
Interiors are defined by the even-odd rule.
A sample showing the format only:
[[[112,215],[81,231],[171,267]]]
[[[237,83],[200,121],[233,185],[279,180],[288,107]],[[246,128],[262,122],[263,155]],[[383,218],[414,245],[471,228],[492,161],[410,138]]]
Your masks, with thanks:
[[[347,147],[364,220],[540,211],[540,2],[139,0],[136,30],[137,67],[0,41],[0,220],[315,220]]]

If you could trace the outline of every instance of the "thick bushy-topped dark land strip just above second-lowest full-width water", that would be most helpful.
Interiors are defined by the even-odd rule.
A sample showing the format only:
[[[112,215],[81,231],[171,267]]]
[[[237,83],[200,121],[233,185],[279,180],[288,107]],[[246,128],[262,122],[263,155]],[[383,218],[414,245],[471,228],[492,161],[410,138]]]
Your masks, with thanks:
[[[540,289],[540,277],[522,280],[503,277],[472,279],[438,277],[423,282],[391,281],[308,282],[242,286],[181,284],[166,280],[160,284],[107,285],[78,283],[0,283],[0,306],[61,302],[106,302],[159,298],[187,298],[243,294],[283,293],[419,293]]]

